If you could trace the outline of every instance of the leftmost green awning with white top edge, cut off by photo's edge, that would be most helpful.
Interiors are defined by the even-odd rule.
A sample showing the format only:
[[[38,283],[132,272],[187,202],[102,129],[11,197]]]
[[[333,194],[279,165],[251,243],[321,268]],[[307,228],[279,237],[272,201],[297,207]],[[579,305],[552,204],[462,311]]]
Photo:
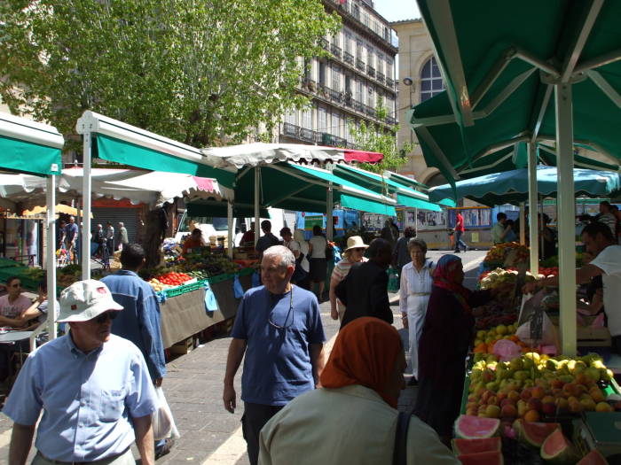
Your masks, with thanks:
[[[0,113],[0,169],[60,174],[63,136],[51,126]]]

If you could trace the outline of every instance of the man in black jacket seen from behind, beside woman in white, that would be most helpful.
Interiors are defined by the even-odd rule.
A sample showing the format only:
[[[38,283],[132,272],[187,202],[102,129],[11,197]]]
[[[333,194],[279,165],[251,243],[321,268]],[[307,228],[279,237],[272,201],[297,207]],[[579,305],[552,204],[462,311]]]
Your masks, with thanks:
[[[374,316],[392,324],[388,298],[387,268],[392,260],[390,243],[374,239],[367,250],[369,260],[355,263],[343,283],[346,310],[341,328],[360,316]]]

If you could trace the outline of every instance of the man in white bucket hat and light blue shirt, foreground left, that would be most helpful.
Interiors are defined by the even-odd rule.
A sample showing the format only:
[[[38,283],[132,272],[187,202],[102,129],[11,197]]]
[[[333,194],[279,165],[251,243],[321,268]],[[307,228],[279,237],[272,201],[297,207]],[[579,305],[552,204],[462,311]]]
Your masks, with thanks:
[[[58,321],[70,331],[28,355],[3,410],[14,422],[9,463],[26,463],[43,410],[33,465],[134,465],[134,440],[153,465],[157,400],[142,353],[110,334],[120,310],[100,281],[62,291]]]

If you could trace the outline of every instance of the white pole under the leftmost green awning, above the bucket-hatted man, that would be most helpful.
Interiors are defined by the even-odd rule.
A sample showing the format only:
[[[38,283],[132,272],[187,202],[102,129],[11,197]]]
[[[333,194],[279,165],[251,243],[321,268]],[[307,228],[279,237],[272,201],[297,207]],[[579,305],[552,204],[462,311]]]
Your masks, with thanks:
[[[56,177],[51,174],[47,177],[45,190],[47,215],[45,229],[47,230],[47,251],[45,253],[45,267],[47,271],[47,324],[48,340],[56,338]]]

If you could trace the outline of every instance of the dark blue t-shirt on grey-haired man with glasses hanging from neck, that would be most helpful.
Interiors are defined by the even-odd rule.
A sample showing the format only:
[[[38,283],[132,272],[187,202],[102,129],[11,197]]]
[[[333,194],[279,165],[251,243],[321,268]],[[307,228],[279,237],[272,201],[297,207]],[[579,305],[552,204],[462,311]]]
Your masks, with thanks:
[[[322,344],[326,335],[312,292],[294,286],[292,299],[291,291],[274,295],[265,286],[248,290],[232,337],[247,342],[241,376],[245,402],[283,406],[315,389],[309,345]]]

